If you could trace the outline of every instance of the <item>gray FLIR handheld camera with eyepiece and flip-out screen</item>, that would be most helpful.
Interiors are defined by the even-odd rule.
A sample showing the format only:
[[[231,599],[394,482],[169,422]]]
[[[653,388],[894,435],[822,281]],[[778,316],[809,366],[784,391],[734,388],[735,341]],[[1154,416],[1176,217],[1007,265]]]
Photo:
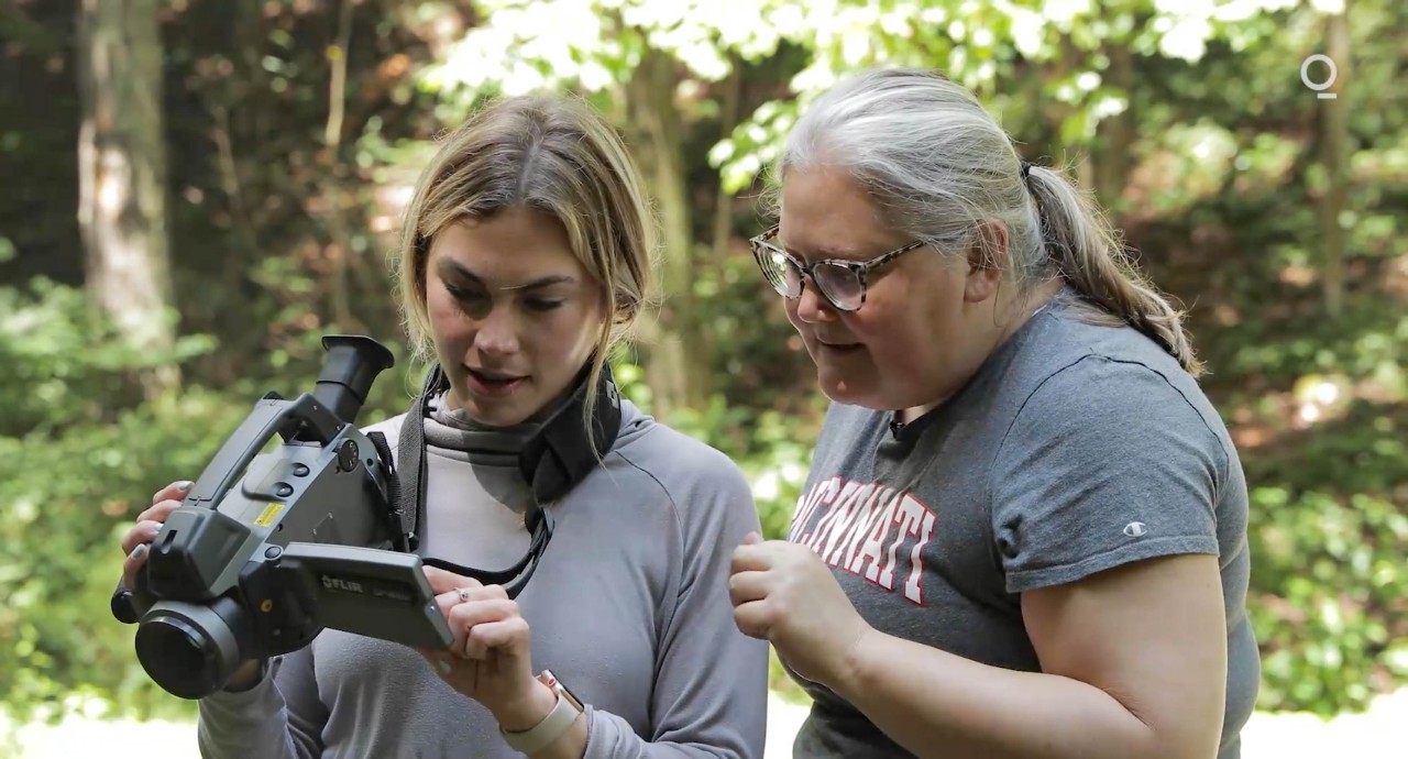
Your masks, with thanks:
[[[138,624],[144,669],[175,696],[208,696],[242,662],[297,651],[324,628],[452,641],[421,558],[394,551],[389,449],[352,424],[390,353],[369,338],[324,345],[318,391],[256,403],[162,525],[137,587],[114,593],[113,614]]]

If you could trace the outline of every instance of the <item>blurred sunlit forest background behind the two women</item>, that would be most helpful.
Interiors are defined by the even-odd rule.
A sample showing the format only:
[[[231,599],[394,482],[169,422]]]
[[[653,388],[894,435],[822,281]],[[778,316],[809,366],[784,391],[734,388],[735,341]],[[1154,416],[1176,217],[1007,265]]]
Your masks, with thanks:
[[[359,421],[406,407],[387,253],[494,93],[628,138],[666,300],[618,376],[780,535],[822,403],[748,253],[759,169],[839,73],[907,63],[1073,166],[1191,310],[1252,489],[1260,707],[1360,708],[1408,680],[1405,30],[1398,0],[0,0],[0,707],[190,713],[107,611],[118,535],[311,389],[327,332],[398,356]]]

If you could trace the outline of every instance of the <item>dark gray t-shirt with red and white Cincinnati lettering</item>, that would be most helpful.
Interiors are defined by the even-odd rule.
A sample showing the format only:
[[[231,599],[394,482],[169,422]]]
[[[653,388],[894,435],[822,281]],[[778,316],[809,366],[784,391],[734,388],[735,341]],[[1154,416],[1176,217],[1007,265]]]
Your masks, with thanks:
[[[1219,558],[1228,701],[1219,759],[1239,755],[1260,660],[1247,624],[1247,493],[1217,410],[1132,328],[1052,304],[948,403],[907,427],[835,404],[788,539],[826,560],[881,632],[1039,672],[1021,593],[1174,553]],[[829,690],[798,758],[911,756]]]

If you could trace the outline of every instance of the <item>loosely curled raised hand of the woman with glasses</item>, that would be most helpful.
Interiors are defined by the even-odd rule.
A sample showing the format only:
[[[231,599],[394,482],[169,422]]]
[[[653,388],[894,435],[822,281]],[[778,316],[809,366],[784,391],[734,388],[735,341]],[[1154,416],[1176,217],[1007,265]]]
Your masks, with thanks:
[[[815,551],[755,532],[734,549],[728,593],[738,629],[770,641],[797,675],[834,686],[873,628]]]

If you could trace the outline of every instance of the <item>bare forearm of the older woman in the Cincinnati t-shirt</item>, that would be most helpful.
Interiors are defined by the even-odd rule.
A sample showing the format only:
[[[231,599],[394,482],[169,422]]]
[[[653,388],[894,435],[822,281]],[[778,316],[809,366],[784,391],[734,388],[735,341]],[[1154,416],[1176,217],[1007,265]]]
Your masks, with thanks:
[[[917,756],[1139,759],[1155,732],[1108,693],[870,631],[832,684]]]

